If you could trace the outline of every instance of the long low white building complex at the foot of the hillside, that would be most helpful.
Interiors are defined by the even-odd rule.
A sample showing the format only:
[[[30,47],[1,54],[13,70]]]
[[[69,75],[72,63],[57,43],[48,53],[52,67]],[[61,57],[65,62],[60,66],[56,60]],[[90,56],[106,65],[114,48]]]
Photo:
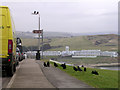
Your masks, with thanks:
[[[28,56],[35,56],[37,51],[28,51],[26,54]],[[40,52],[42,55],[42,52]],[[66,46],[65,51],[44,51],[43,52],[44,56],[92,56],[92,57],[97,57],[97,56],[110,56],[110,57],[117,57],[118,53],[117,52],[111,52],[111,51],[101,51],[101,50],[81,50],[81,51],[69,51],[69,47]]]

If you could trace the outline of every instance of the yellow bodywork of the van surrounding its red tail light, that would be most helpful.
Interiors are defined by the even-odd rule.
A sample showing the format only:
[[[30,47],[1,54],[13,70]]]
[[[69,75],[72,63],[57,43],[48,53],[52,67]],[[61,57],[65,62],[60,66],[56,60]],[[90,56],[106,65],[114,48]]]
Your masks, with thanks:
[[[16,54],[16,40],[13,37],[14,30],[12,29],[11,16],[8,7],[0,7],[0,58],[7,58],[8,55],[8,40],[13,41],[13,55]]]

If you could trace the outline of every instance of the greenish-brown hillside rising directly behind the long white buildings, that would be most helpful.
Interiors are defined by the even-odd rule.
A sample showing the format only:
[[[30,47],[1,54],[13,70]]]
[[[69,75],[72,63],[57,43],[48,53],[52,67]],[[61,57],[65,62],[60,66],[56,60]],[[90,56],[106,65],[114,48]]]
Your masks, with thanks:
[[[22,39],[24,46],[37,46],[37,39]],[[49,50],[65,50],[65,46],[69,46],[70,50],[82,49],[100,49],[108,51],[117,51],[118,39],[115,34],[106,35],[90,35],[90,36],[75,36],[64,38],[44,39],[44,44],[49,43],[54,47]]]

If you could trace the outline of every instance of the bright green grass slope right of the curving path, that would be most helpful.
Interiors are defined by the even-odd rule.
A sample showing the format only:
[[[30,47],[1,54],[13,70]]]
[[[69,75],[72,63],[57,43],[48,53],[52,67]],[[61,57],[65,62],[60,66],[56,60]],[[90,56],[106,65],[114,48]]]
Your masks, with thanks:
[[[58,68],[95,88],[118,88],[118,71],[87,68],[86,72],[76,72],[72,66],[62,69],[60,65]],[[91,74],[92,70],[97,70],[99,75]]]

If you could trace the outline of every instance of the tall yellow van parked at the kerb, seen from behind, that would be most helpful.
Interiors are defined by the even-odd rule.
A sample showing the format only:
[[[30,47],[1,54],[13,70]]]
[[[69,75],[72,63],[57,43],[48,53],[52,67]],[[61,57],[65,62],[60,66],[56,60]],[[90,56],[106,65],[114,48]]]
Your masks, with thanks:
[[[15,27],[6,6],[0,6],[0,66],[2,72],[12,76],[16,71]]]

